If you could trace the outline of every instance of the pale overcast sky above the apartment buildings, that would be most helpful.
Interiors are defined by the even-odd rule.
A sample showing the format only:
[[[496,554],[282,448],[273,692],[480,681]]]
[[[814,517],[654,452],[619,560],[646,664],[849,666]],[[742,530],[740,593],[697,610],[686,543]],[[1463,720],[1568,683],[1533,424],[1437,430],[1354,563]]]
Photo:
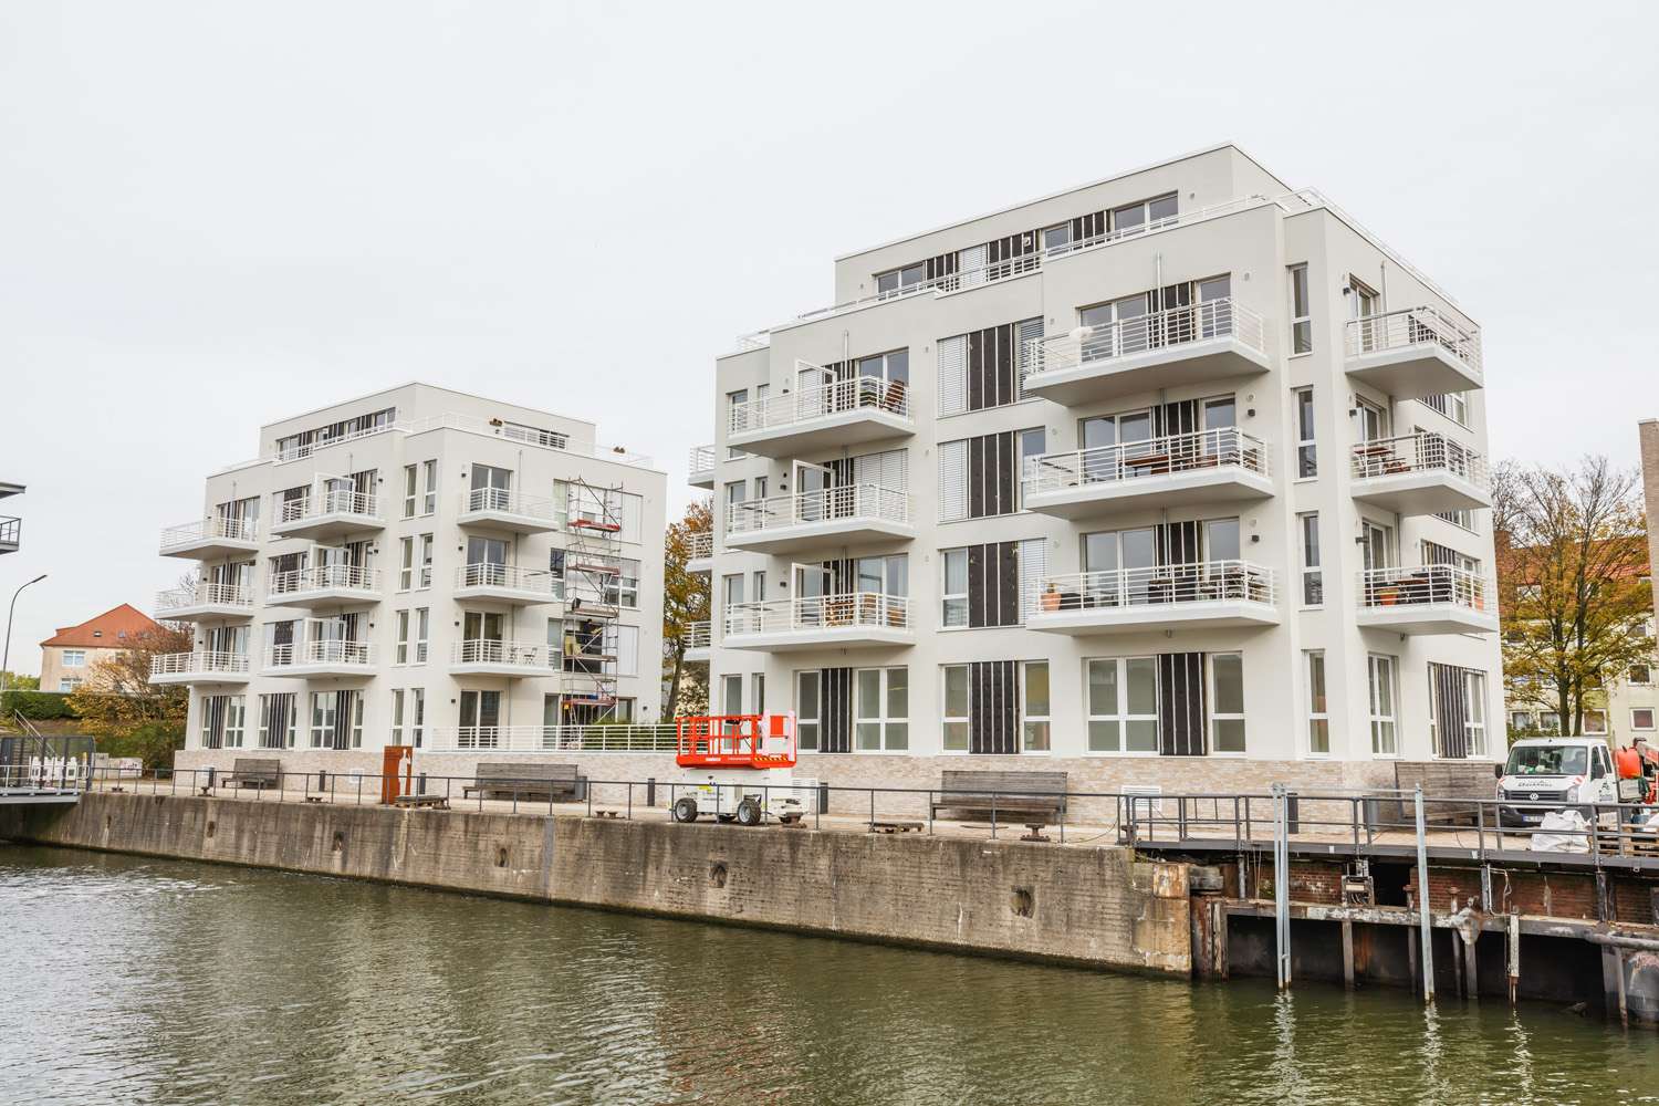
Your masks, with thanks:
[[[712,358],[836,254],[1223,141],[1483,325],[1495,456],[1636,464],[1659,18],[1563,10],[0,0],[12,667],[149,612],[260,423],[428,380],[690,497]]]

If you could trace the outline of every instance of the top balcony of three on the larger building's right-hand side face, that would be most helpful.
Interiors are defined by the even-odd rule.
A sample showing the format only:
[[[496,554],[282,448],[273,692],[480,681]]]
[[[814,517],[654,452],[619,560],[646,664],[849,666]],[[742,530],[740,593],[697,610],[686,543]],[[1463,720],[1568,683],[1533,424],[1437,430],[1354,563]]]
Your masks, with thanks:
[[[1350,318],[1345,368],[1395,400],[1481,388],[1480,332],[1433,307]]]

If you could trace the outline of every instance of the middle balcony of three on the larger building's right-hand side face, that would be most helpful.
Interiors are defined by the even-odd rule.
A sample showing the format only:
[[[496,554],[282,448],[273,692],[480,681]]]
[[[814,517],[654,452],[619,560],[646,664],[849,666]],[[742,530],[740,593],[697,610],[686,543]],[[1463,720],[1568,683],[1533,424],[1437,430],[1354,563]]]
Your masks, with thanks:
[[[1445,434],[1362,441],[1349,454],[1354,497],[1395,514],[1440,514],[1491,506],[1486,458]]]

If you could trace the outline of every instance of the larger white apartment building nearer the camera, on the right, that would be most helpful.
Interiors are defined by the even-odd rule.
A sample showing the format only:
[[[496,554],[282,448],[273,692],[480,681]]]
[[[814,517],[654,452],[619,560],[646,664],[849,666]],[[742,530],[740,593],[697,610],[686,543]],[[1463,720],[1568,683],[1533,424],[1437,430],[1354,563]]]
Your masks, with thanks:
[[[713,710],[803,776],[1501,754],[1480,330],[1234,146],[839,257],[717,380]]]

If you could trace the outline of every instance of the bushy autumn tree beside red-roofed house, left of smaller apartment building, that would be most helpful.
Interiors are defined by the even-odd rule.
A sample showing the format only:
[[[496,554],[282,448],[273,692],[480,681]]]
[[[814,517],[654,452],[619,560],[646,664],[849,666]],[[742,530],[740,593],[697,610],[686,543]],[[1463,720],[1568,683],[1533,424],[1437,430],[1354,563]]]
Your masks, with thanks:
[[[191,691],[179,683],[151,683],[151,663],[159,653],[191,652],[191,630],[164,623],[159,632],[86,668],[81,686],[70,695],[86,733],[111,756],[141,756],[146,768],[166,768],[173,749],[184,748],[184,723]]]

